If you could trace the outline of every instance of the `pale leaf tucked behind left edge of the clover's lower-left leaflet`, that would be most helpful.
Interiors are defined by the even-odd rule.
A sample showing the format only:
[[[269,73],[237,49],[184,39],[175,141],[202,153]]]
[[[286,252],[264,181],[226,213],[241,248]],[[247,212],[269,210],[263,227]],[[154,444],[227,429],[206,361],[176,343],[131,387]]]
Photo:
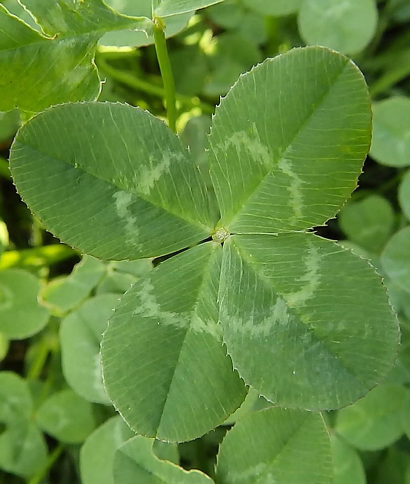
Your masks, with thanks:
[[[88,299],[63,319],[60,327],[63,374],[67,383],[89,402],[110,404],[104,390],[99,345],[118,295]]]

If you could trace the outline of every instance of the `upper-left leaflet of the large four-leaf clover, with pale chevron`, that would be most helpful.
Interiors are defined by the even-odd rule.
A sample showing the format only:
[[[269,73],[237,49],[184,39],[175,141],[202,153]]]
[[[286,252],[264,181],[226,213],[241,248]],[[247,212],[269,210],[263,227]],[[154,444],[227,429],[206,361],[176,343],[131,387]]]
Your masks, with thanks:
[[[19,131],[10,164],[22,198],[44,225],[96,257],[160,256],[212,232],[206,189],[188,152],[162,121],[138,108],[49,109]]]

